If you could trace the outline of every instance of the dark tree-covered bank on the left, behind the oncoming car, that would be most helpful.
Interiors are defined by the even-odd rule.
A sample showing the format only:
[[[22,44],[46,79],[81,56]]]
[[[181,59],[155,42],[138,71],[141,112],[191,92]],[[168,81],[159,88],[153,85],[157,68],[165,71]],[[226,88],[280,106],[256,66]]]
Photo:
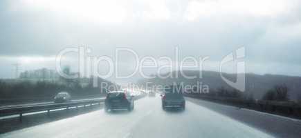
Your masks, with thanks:
[[[105,81],[100,79],[100,82]],[[119,88],[118,85],[115,90]],[[112,87],[114,88],[114,87]],[[57,92],[67,91],[73,97],[93,97],[105,95],[106,92],[111,91],[106,88],[92,86],[88,82],[87,85],[81,85],[80,81],[29,81],[29,80],[0,80],[0,99],[52,99]]]

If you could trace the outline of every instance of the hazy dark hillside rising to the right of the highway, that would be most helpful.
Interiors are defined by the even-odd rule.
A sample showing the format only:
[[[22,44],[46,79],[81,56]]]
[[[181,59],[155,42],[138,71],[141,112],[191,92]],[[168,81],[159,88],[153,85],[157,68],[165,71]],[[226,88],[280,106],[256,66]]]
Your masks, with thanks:
[[[199,71],[197,70],[184,70],[185,75],[199,76]],[[172,72],[172,76],[175,76],[176,72]],[[138,84],[143,85],[146,82],[151,82],[152,85],[166,85],[171,83],[185,83],[188,85],[193,85],[197,83],[197,81],[201,82],[203,85],[208,85],[210,91],[218,90],[221,87],[224,87],[229,90],[233,90],[231,86],[229,86],[223,79],[219,72],[214,71],[203,71],[201,78],[196,79],[186,79],[178,72],[179,77],[172,78],[167,77],[167,79],[161,79],[158,75],[154,79],[140,79]],[[224,77],[230,79],[231,81],[236,80],[236,75],[222,73]],[[166,76],[167,74],[165,74]],[[164,75],[163,75],[164,76]],[[256,75],[253,73],[246,73],[246,91],[245,93],[249,93],[253,95],[254,99],[261,99],[264,93],[266,93],[269,89],[273,88],[276,85],[286,85],[289,88],[289,98],[291,100],[297,100],[300,97],[301,92],[301,77],[291,77],[285,75]]]

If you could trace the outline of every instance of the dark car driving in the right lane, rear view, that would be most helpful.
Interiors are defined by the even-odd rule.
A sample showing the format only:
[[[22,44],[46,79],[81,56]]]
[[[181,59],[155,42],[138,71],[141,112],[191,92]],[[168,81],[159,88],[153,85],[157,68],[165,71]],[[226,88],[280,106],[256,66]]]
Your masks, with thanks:
[[[185,110],[183,92],[165,92],[161,97],[163,110],[166,108],[181,108]]]

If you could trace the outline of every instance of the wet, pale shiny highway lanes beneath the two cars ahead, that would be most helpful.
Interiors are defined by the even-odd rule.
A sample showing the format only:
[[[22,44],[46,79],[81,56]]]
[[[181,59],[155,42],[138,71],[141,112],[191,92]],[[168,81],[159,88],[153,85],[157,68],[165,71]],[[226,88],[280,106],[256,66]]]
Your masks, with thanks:
[[[135,101],[133,112],[84,115],[7,132],[0,137],[273,137],[190,100],[186,110],[162,110],[160,97]]]

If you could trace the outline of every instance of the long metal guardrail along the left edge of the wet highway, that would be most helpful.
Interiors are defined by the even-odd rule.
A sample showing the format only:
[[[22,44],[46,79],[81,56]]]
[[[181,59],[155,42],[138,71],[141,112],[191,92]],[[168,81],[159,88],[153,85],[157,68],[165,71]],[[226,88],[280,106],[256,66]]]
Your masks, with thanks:
[[[86,106],[93,104],[100,104],[104,101],[102,99],[91,99],[91,100],[82,100],[82,101],[70,101],[66,103],[46,103],[46,104],[37,104],[33,106],[17,106],[17,107],[9,107],[9,108],[0,108],[0,117],[6,117],[9,115],[19,115],[19,121],[22,121],[22,115],[24,113],[29,112],[40,112],[40,111],[47,111],[47,115],[49,115],[51,110],[61,109],[61,108],[68,108],[71,107],[78,107],[78,106]]]

